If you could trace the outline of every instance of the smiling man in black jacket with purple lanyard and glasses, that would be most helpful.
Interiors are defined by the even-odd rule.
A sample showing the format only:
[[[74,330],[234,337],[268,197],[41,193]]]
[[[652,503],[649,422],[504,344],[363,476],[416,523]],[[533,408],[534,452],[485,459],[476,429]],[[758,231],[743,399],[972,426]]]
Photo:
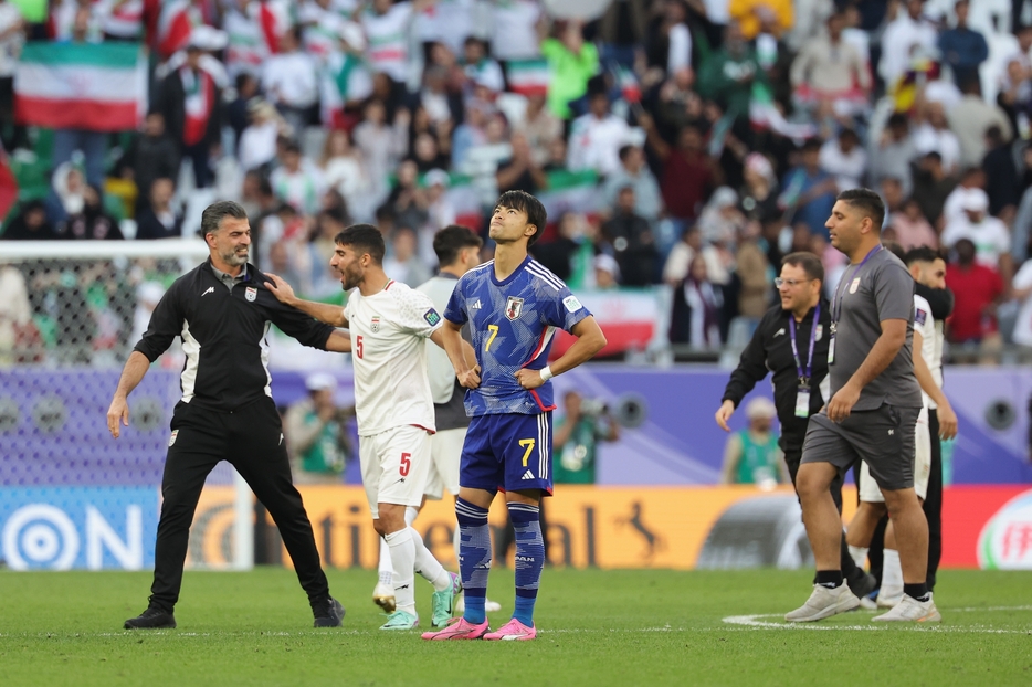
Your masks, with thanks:
[[[760,319],[752,339],[741,353],[724,391],[717,424],[730,431],[727,421],[756,382],[773,374],[775,406],[781,423],[779,444],[784,452],[792,484],[802,457],[810,415],[824,405],[828,377],[830,306],[821,297],[824,267],[812,253],[791,253],[781,261],[781,276],[775,281],[781,302]],[[842,477],[831,485],[832,498],[842,512]],[[857,596],[868,594],[874,578],[856,567],[842,538],[842,572]]]

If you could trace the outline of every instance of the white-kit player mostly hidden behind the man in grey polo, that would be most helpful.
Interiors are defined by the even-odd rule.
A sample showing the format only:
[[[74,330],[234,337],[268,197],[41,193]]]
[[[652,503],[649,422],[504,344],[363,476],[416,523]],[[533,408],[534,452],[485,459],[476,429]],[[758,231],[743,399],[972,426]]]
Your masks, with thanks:
[[[893,246],[894,247],[894,246]],[[902,251],[901,251],[902,252]],[[929,247],[914,249],[904,257],[910,275],[918,284],[929,288],[946,287],[946,261]],[[923,406],[916,429],[916,461],[914,466],[914,488],[924,500],[928,489],[931,469],[931,442],[929,413],[935,411],[939,418],[939,436],[951,438],[957,434],[957,414],[943,393],[943,332],[936,329],[931,317],[931,306],[924,297],[914,294],[914,373],[922,388]],[[860,508],[850,522],[846,541],[857,566],[863,566],[867,558],[867,548],[878,520],[884,516],[885,498],[871,477],[866,463],[861,467]],[[885,529],[885,557],[882,564],[882,586],[878,591],[877,606],[892,609],[903,599],[903,568],[899,564],[899,551],[896,549],[895,532],[892,524]]]

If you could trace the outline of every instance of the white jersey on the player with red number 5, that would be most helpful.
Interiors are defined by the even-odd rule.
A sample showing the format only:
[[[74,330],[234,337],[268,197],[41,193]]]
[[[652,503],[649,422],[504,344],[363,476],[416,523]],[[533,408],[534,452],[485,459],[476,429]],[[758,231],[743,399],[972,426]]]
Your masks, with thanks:
[[[391,279],[372,296],[352,289],[344,316],[351,331],[359,435],[403,425],[434,432],[425,339],[442,320],[430,297]]]

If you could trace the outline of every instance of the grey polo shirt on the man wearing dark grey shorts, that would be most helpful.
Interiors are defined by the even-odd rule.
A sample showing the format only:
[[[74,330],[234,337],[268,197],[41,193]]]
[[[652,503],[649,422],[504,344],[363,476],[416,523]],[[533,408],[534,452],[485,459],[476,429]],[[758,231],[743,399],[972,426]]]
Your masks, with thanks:
[[[828,368],[831,393],[850,381],[882,336],[882,321],[904,319],[906,344],[888,367],[864,387],[853,410],[875,410],[883,403],[920,408],[920,387],[914,376],[914,278],[903,262],[882,249],[860,268],[850,265],[832,302],[835,360]]]

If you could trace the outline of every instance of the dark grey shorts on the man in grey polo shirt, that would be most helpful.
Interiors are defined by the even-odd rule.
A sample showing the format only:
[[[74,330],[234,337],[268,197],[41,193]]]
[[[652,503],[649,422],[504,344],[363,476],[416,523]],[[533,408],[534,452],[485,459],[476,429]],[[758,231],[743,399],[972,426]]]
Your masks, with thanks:
[[[914,487],[914,430],[920,408],[883,403],[868,411],[853,411],[842,422],[825,413],[810,418],[801,463],[831,463],[842,476],[863,461],[882,489]]]

